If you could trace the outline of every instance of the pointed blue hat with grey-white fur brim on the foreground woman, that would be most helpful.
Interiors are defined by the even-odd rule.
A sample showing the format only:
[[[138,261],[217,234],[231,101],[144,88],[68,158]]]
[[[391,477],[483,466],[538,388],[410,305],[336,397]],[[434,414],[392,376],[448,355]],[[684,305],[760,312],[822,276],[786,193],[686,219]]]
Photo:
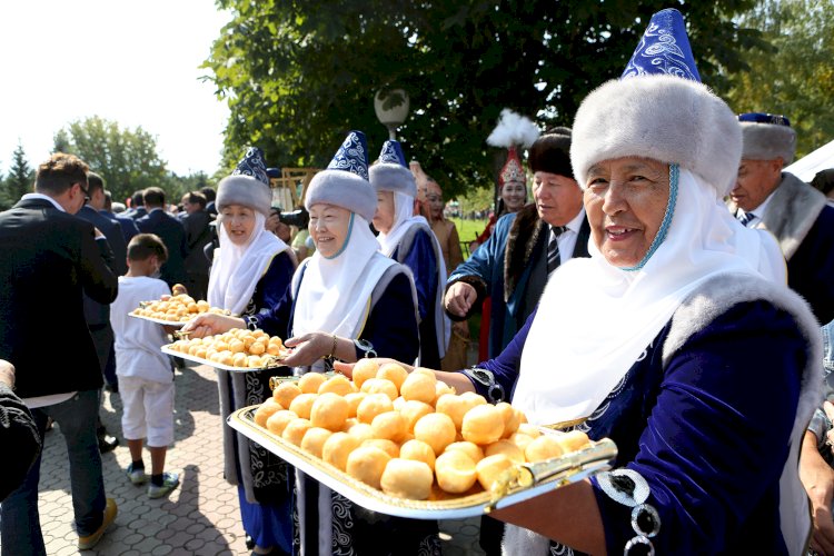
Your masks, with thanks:
[[[683,16],[655,13],[618,80],[579,106],[570,161],[579,186],[596,162],[648,157],[675,162],[724,197],[735,183],[742,130],[721,98],[701,83]]]

